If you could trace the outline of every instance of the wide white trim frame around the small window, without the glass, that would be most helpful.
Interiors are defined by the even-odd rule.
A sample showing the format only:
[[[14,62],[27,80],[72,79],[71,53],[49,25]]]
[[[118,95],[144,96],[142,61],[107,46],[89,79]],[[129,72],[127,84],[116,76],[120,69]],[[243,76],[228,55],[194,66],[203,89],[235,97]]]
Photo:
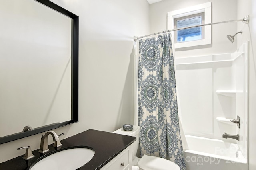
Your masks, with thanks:
[[[212,3],[207,2],[204,4],[191,6],[189,8],[183,8],[167,13],[167,29],[174,29],[174,19],[184,16],[190,16],[193,14],[199,14],[204,12],[204,24],[212,23]],[[174,34],[172,34],[174,40]],[[198,45],[207,45],[212,43],[212,26],[204,26],[204,39],[195,41],[185,41],[174,44],[174,48],[193,47]]]

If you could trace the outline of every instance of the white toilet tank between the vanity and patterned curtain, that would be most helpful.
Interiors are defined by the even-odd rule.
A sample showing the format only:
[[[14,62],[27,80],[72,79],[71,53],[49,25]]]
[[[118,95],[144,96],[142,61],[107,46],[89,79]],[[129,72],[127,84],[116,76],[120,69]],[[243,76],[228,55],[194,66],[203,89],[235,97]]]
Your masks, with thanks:
[[[136,137],[136,141],[132,143],[132,160],[136,158],[136,153],[138,150],[138,145],[139,145],[139,133],[140,133],[140,127],[139,126],[133,126],[132,131],[124,131],[124,129],[121,127],[120,129],[117,129],[113,133],[118,133],[121,135],[128,135],[128,136],[133,136]]]

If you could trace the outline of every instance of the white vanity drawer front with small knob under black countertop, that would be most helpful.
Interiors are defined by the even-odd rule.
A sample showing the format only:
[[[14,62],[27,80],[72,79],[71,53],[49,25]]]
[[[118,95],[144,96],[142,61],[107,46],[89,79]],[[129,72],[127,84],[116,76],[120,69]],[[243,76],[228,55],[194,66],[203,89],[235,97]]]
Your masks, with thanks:
[[[125,149],[113,160],[108,162],[101,170],[128,170],[130,168],[130,150]]]

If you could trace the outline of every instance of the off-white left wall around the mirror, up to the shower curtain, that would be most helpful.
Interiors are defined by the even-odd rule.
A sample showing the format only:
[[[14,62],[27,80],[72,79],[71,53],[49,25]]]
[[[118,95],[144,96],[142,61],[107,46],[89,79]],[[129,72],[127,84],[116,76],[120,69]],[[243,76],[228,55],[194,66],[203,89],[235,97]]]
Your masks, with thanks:
[[[146,0],[52,0],[79,16],[79,122],[55,129],[64,139],[87,129],[133,123],[134,35],[149,33]],[[11,128],[11,127],[8,127]],[[8,130],[8,128],[6,128]],[[0,145],[0,162],[39,149],[40,135]],[[52,139],[50,139],[52,141]]]

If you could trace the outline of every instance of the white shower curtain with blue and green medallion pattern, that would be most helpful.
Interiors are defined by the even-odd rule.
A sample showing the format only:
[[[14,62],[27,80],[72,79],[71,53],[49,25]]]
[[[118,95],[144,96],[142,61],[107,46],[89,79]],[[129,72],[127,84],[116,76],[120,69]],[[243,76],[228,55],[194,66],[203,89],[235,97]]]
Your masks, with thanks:
[[[140,156],[158,156],[186,170],[180,139],[171,35],[140,40],[138,124]]]

